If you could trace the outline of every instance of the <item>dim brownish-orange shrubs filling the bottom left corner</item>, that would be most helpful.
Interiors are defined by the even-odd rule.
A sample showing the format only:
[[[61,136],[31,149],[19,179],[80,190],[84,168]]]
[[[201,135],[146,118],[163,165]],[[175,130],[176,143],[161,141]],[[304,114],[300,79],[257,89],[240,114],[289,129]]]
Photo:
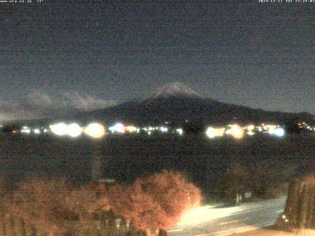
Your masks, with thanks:
[[[64,180],[32,179],[7,195],[6,213],[30,223],[38,235],[75,234],[94,224],[93,213],[108,202],[92,187],[71,190]]]

